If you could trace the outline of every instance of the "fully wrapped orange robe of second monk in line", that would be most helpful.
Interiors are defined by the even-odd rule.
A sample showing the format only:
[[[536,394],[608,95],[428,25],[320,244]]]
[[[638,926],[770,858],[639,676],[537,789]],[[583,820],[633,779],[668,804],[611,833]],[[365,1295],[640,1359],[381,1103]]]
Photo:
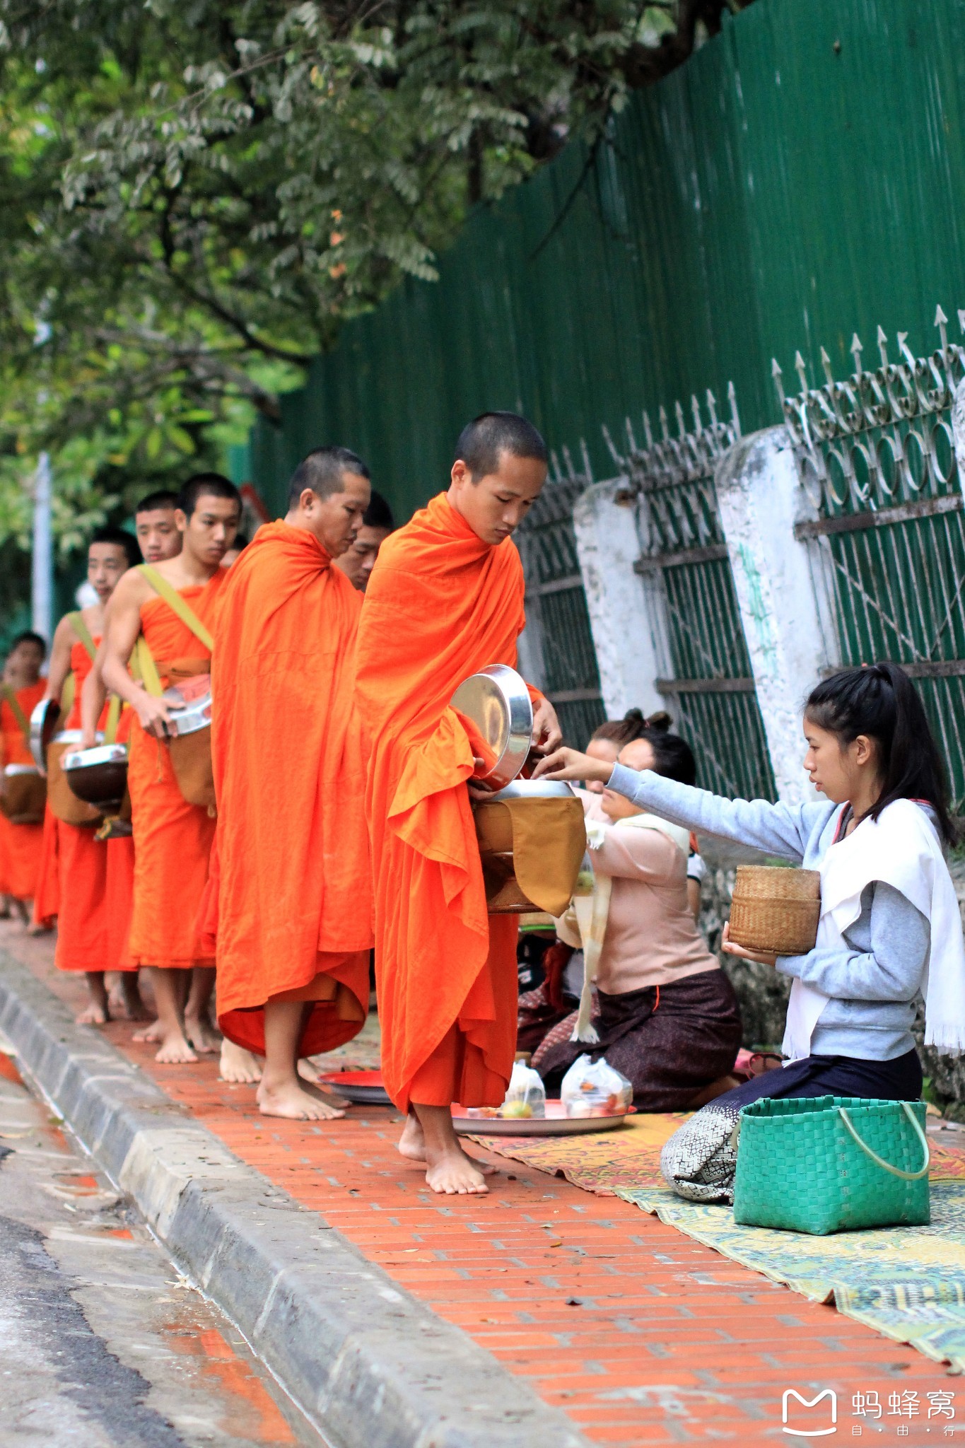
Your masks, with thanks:
[[[265,1051],[265,1003],[311,1001],[299,1044],[350,1041],[369,1006],[372,888],[354,715],[362,597],[304,529],[231,565],[214,636],[218,1025]],[[208,902],[210,906],[210,902]]]

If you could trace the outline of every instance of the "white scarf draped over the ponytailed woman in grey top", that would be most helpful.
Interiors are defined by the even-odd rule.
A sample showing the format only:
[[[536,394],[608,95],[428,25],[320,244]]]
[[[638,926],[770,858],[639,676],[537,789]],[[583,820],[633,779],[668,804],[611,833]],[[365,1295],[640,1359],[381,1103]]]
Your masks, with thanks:
[[[965,1050],[962,917],[938,833],[911,799],[896,799],[828,850],[820,866],[817,950],[849,950],[843,933],[861,914],[861,892],[875,880],[900,891],[930,924],[922,977],[924,1044],[956,1054]],[[810,1056],[828,1001],[822,990],[794,979],[781,1047],[791,1061]]]

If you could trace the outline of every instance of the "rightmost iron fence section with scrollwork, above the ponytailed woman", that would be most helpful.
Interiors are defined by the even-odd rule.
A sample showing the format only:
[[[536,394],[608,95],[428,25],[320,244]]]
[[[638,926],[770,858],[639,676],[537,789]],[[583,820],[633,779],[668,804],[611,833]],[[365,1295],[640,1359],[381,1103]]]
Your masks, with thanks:
[[[958,313],[965,332],[965,311]],[[965,809],[965,505],[951,408],[965,350],[948,342],[911,353],[878,329],[880,366],[865,371],[855,336],[854,374],[784,397],[784,417],[816,517],[796,526],[809,544],[815,586],[830,599],[841,663],[900,663],[922,695],[945,756],[958,812]],[[897,352],[897,358],[890,361]]]

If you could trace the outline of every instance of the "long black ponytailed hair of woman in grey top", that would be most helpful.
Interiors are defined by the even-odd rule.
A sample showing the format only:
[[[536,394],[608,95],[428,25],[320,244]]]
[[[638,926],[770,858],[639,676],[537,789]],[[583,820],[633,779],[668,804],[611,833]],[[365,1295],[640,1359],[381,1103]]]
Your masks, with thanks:
[[[842,669],[812,689],[804,715],[851,744],[867,734],[878,746],[881,794],[868,811],[877,820],[896,799],[927,799],[946,844],[958,831],[948,807],[948,785],[922,699],[896,663]]]

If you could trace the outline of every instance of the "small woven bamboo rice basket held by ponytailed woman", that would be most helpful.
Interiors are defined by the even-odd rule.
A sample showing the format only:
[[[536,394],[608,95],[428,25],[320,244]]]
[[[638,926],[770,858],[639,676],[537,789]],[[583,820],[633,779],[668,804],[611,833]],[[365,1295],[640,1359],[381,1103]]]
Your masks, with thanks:
[[[815,948],[820,917],[817,870],[738,864],[731,901],[731,940],[767,956],[804,956]]]

